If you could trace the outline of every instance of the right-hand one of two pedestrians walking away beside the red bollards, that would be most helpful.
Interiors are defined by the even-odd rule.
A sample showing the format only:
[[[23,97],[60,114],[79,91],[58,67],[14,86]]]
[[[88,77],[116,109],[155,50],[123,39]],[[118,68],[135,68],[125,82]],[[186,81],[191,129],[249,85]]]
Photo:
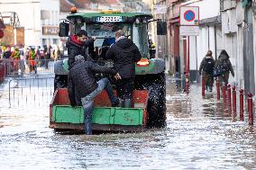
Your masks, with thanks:
[[[215,64],[215,70],[218,70],[219,72],[218,79],[219,79],[219,82],[222,83],[222,85],[228,84],[230,72],[232,76],[234,76],[233,67],[229,58],[230,58],[229,55],[223,49]]]

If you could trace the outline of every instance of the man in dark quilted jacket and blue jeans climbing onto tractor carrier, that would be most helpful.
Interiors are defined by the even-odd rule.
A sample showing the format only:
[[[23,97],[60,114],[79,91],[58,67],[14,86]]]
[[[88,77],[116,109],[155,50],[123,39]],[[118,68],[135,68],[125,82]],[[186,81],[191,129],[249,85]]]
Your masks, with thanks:
[[[76,56],[75,60],[69,70],[69,101],[72,106],[82,103],[85,114],[85,132],[87,135],[91,135],[91,119],[96,95],[105,89],[112,106],[119,105],[119,100],[114,97],[113,89],[108,79],[102,78],[96,82],[96,73],[113,75],[115,79],[120,79],[121,77],[114,69],[101,67],[92,61],[85,61],[85,58],[81,55]]]

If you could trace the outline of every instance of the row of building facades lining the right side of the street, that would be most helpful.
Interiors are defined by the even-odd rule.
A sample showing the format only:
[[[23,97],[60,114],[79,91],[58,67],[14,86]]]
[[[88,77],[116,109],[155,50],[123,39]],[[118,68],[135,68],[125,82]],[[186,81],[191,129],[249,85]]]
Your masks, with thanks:
[[[235,75],[230,76],[230,84],[255,94],[256,0],[155,0],[152,3],[167,8],[166,13],[155,15],[168,23],[167,39],[163,41],[157,35],[154,37],[159,48],[165,48],[167,44],[163,56],[167,57],[169,72],[182,78],[189,54],[190,80],[199,82],[198,68],[206,51],[212,50],[217,59],[225,49]],[[199,35],[189,36],[189,43],[187,37],[179,35],[180,6],[198,6],[200,11]]]

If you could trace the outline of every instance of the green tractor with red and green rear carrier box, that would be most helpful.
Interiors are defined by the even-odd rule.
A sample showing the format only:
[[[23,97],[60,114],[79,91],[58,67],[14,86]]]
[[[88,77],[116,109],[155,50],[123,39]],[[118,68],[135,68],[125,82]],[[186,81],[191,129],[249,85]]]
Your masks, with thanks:
[[[133,42],[137,45],[142,54],[142,60],[140,60],[138,63],[134,63],[134,65],[136,66],[134,95],[137,98],[133,100],[136,101],[139,98],[144,98],[142,100],[140,99],[137,101],[138,103],[144,104],[142,104],[141,106],[142,112],[138,111],[141,112],[141,117],[132,118],[133,116],[130,116],[129,122],[138,121],[140,119],[141,121],[138,121],[137,124],[135,123],[137,127],[164,127],[166,124],[166,79],[164,73],[165,61],[162,58],[152,58],[152,56],[154,55],[151,52],[152,49],[148,35],[148,24],[149,22],[157,22],[158,34],[165,35],[166,22],[153,20],[152,15],[149,13],[120,13],[114,11],[107,11],[103,13],[71,13],[68,15],[67,19],[67,21],[59,23],[59,37],[68,37],[69,35],[73,35],[81,29],[86,30],[89,37],[96,37],[96,40],[94,42],[93,54],[91,55],[93,55],[93,58],[96,60],[98,58],[101,58],[98,62],[101,65],[105,65],[105,67],[113,67],[113,62],[109,60],[104,60],[104,58],[105,52],[107,51],[107,49],[110,48],[111,44],[114,43],[115,31],[123,30],[127,38],[133,40]],[[76,126],[74,126],[74,123],[80,123],[81,125],[81,123],[83,122],[81,116],[83,115],[78,116],[77,121],[66,120],[66,122],[65,119],[70,119],[70,115],[66,115],[66,117],[63,116],[63,114],[66,113],[61,113],[61,118],[57,118],[57,114],[59,112],[73,111],[72,109],[69,111],[67,110],[67,107],[69,107],[69,102],[67,102],[69,101],[67,99],[68,94],[67,90],[63,91],[63,89],[67,88],[68,86],[68,60],[64,59],[63,61],[57,61],[54,65],[54,72],[55,98],[52,100],[52,103],[50,104],[50,128],[53,128],[55,130],[79,129],[76,128]],[[145,91],[147,92],[146,94]],[[58,95],[59,99],[57,99]],[[104,100],[98,99],[96,103],[96,106],[100,105],[102,108],[104,108]],[[134,102],[133,104],[135,107],[136,103]],[[68,106],[65,106],[65,111],[63,109],[62,111],[60,111],[61,109],[59,110],[59,108],[56,107],[58,105]],[[107,107],[105,106],[105,108]],[[94,114],[98,115],[96,115],[95,118],[93,118],[93,121],[95,121],[95,123],[100,124],[100,119],[107,119],[108,121],[102,124],[114,124],[114,121],[111,121],[110,123],[110,118],[103,118],[99,116],[99,114],[103,112],[103,110],[98,110],[98,108],[96,110],[97,113],[94,112]],[[119,116],[118,119],[127,120],[127,114],[129,112],[133,112],[134,108],[131,108],[130,110],[127,108],[118,108],[117,110],[111,110],[111,112],[116,112],[116,115],[117,112],[119,112],[120,114],[125,114],[126,117],[122,115]],[[126,112],[122,113],[124,110]],[[78,112],[80,112],[78,114],[82,114],[82,111]],[[113,115],[114,114],[112,114],[112,116]],[[59,121],[57,121],[58,119]],[[114,120],[116,121],[117,117],[114,117]],[[119,121],[119,123],[117,123],[116,121],[115,125],[118,125],[118,127],[127,127],[127,125],[130,124],[127,124],[127,122],[124,121]],[[82,126],[80,126],[80,128],[81,127]],[[108,130],[110,129],[108,128]],[[111,130],[115,129],[112,127]]]

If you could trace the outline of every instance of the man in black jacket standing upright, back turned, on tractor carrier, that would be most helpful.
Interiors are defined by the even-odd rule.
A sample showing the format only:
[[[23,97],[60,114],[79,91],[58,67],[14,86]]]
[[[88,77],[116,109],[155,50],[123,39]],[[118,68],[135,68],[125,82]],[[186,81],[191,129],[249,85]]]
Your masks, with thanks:
[[[105,58],[114,61],[114,69],[122,79],[116,81],[116,92],[121,107],[132,107],[135,62],[142,58],[133,40],[127,39],[122,30],[115,32],[115,44],[105,54]]]

